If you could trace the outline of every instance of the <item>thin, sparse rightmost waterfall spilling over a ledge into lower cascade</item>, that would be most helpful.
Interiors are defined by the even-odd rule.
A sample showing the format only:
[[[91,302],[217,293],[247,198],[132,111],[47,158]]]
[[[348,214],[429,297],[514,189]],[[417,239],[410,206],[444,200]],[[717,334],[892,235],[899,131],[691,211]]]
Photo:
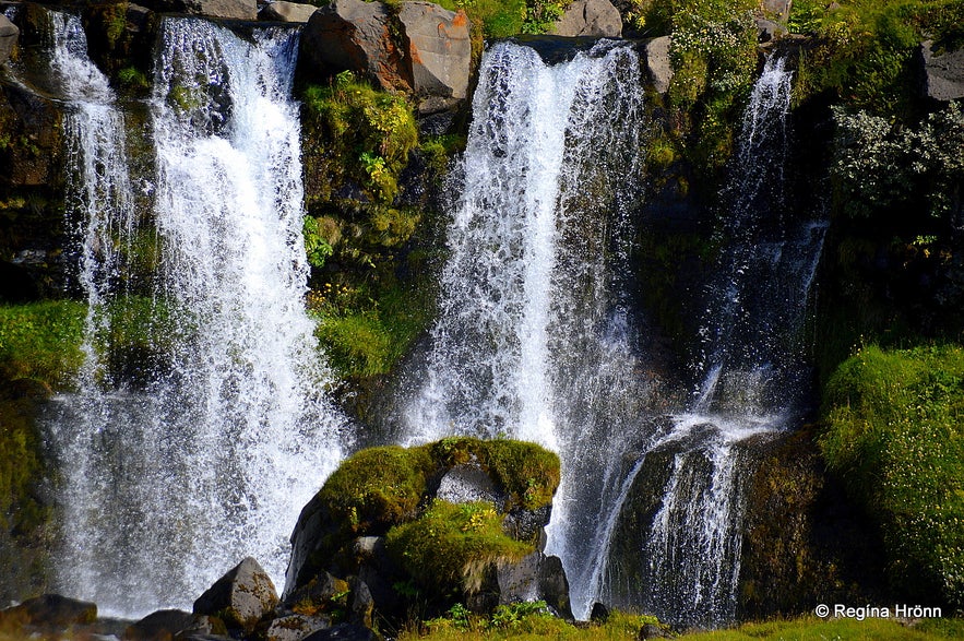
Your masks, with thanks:
[[[642,567],[609,567],[616,561],[607,554],[598,571],[604,598],[641,603],[675,624],[735,620],[752,444],[793,428],[806,397],[802,333],[825,223],[789,219],[782,206],[792,80],[783,60],[771,58],[755,83],[722,194],[723,249],[706,292],[699,384],[689,409],[669,417],[627,480],[662,484],[648,489],[662,498],[642,525]]]

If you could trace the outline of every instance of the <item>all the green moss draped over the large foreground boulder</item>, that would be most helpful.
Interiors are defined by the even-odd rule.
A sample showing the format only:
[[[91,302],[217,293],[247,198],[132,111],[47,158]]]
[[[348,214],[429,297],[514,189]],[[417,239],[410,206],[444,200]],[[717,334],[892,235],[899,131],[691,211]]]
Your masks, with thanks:
[[[426,505],[431,482],[469,462],[507,495],[501,511],[484,503]],[[348,546],[358,536],[388,535],[390,553],[423,595],[448,598],[476,590],[492,563],[535,549],[535,541],[503,531],[509,511],[547,506],[558,485],[559,458],[533,443],[453,437],[416,448],[361,450],[312,500],[326,525],[309,566],[325,568],[350,558]]]

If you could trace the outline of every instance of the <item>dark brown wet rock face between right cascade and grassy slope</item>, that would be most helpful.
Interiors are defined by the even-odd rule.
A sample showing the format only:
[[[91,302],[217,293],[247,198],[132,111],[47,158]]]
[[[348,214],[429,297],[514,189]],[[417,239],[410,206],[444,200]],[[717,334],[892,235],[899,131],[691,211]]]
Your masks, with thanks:
[[[750,479],[738,616],[797,616],[814,603],[885,603],[880,535],[826,475],[804,429],[765,447]]]

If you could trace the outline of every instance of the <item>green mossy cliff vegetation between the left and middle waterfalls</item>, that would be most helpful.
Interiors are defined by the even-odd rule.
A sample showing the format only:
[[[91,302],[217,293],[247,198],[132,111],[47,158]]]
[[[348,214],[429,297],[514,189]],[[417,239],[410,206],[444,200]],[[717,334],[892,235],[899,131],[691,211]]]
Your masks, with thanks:
[[[444,174],[452,136],[419,151],[410,105],[352,73],[304,91],[308,216],[304,235],[313,268],[309,311],[332,365],[345,378],[389,373],[429,322],[428,274],[410,251],[421,209],[400,204],[398,179],[413,153]],[[409,269],[404,276],[398,271]]]

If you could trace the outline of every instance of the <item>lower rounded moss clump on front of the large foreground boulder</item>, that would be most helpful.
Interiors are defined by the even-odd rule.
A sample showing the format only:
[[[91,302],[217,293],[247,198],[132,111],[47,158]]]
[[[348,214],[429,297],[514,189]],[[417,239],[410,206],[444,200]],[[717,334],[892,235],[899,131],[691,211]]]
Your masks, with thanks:
[[[534,551],[507,536],[502,520],[491,503],[437,500],[417,520],[389,531],[388,549],[424,591],[471,594],[481,587],[487,570]]]

